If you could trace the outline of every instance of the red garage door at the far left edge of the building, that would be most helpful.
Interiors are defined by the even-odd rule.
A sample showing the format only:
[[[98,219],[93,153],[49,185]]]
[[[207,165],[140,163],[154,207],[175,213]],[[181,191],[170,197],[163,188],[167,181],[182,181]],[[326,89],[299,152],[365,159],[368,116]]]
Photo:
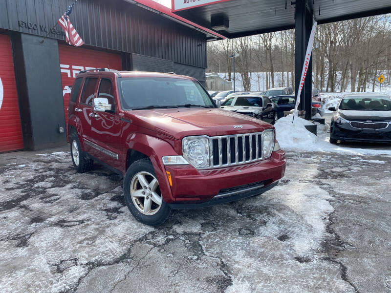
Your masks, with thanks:
[[[0,152],[23,149],[11,40],[0,35]]]

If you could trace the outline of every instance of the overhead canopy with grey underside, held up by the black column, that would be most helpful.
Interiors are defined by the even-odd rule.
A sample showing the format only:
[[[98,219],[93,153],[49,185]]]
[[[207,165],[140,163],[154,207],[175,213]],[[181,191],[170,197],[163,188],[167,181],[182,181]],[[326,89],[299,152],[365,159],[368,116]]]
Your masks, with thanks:
[[[228,38],[295,28],[300,0],[172,0],[175,14]],[[391,13],[390,0],[307,0],[318,24]]]

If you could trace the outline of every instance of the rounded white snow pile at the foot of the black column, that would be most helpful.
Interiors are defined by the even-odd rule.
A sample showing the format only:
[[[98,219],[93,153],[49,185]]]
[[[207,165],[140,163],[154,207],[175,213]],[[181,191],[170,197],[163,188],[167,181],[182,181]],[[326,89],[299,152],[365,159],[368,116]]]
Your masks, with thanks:
[[[315,145],[317,142],[316,135],[309,132],[305,125],[312,125],[307,120],[295,117],[292,123],[293,114],[282,117],[274,125],[276,128],[276,139],[282,148],[306,148]]]

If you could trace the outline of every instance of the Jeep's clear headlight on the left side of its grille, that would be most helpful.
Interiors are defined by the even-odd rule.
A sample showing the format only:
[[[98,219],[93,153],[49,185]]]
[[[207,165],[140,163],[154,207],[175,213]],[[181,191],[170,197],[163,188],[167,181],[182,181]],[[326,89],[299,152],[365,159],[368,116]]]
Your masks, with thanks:
[[[182,141],[183,157],[196,168],[210,166],[209,139],[206,137],[189,136]]]

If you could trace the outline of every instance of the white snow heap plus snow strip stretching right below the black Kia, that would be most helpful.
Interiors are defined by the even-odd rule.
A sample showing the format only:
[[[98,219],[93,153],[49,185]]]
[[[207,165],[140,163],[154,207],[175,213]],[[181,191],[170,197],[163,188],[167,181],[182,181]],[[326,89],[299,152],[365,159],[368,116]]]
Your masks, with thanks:
[[[333,145],[329,143],[329,126],[317,123],[317,136],[309,132],[304,126],[310,122],[295,117],[292,123],[293,115],[290,114],[277,121],[274,125],[276,128],[276,139],[282,149],[292,148],[309,151],[331,151],[346,154],[389,154],[391,147],[385,145],[384,148],[360,148],[348,145]]]

